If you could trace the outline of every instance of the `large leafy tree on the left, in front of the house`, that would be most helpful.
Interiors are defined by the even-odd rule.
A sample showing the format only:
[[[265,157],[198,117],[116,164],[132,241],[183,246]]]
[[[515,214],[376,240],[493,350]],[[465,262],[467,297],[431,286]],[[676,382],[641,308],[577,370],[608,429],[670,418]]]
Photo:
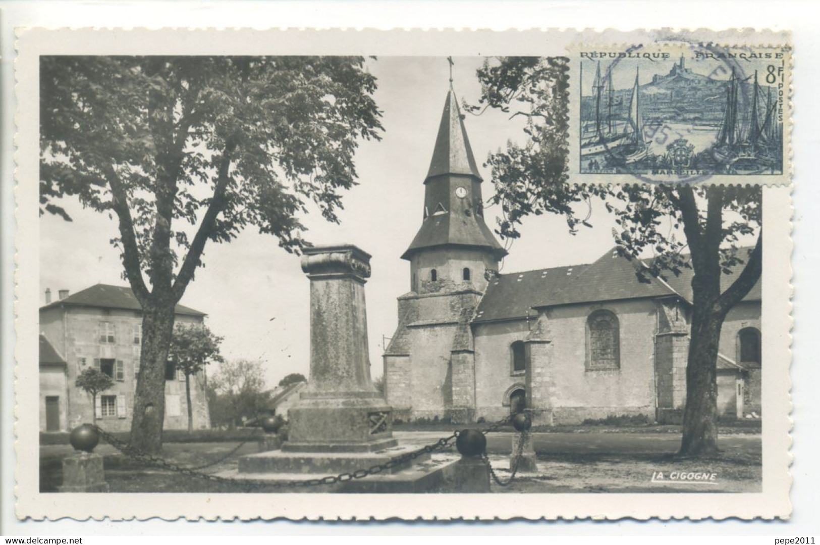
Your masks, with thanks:
[[[375,90],[362,57],[41,57],[41,213],[71,221],[71,196],[116,218],[143,309],[134,447],[162,447],[175,304],[207,241],[254,226],[298,252],[309,203],[338,222]]]

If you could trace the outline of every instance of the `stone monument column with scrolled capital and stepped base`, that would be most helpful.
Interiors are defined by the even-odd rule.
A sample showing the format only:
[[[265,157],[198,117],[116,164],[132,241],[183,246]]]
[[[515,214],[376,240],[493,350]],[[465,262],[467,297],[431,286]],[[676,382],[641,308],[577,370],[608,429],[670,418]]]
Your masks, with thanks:
[[[353,473],[406,456],[418,447],[399,447],[393,437],[392,409],[370,377],[364,284],[370,255],[353,245],[304,250],[302,270],[310,279],[310,377],[299,401],[288,411],[288,440],[281,450],[239,459],[239,479],[289,480]],[[385,469],[370,484],[344,488],[385,492],[433,483],[425,472],[396,477],[423,454]],[[427,472],[429,473],[429,472]],[[388,484],[378,484],[385,481]],[[375,487],[373,490],[370,488]]]

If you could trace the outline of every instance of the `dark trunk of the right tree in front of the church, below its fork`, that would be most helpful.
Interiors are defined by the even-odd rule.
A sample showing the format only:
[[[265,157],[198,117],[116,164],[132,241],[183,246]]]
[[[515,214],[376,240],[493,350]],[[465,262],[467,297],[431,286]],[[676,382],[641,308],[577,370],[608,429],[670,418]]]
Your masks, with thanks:
[[[717,453],[717,346],[722,316],[695,309],[686,364],[682,456]]]

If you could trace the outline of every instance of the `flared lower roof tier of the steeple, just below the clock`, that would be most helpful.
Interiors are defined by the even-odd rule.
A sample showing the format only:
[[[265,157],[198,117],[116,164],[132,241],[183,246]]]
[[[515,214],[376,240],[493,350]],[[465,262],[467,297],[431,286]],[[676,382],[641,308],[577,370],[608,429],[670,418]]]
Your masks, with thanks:
[[[421,228],[416,233],[402,259],[421,248],[443,245],[474,246],[490,248],[499,258],[507,255],[499,241],[495,239],[490,227],[478,214],[465,216],[457,213],[431,214],[424,218]]]

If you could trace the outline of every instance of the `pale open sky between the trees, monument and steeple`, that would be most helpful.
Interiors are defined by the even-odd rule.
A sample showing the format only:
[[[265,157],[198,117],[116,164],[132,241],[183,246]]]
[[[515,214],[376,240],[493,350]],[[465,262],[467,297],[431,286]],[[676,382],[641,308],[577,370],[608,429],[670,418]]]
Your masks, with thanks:
[[[483,58],[453,60],[459,101],[477,103],[481,85],[476,69]],[[350,243],[373,256],[365,290],[371,374],[376,378],[382,373],[383,337],[392,336],[396,327],[396,298],[409,291],[410,265],[399,256],[421,226],[423,181],[449,88],[449,63],[444,57],[380,57],[368,60],[367,68],[377,78],[382,140],[364,142],[358,149],[359,185],[344,194],[340,224],[317,214],[303,223],[313,244]],[[490,169],[482,163],[508,140],[521,141],[522,125],[496,111],[467,114],[464,122],[487,199],[492,194]],[[75,200],[62,204],[73,222],[52,215],[40,219],[40,303],[46,288],[56,295],[97,283],[127,286],[119,253],[110,244],[117,236],[116,222]],[[485,210],[491,228],[498,213],[498,207]],[[590,222],[594,228],[572,236],[563,218],[526,219],[522,238],[510,248],[501,272],[591,263],[613,246],[614,222],[599,204],[593,204]],[[208,242],[203,261],[205,268],[198,269],[180,302],[208,314],[207,326],[225,337],[225,358],[261,360],[268,387],[288,373],[307,376],[309,293],[299,257],[280,249],[273,236],[249,228],[228,244]]]

